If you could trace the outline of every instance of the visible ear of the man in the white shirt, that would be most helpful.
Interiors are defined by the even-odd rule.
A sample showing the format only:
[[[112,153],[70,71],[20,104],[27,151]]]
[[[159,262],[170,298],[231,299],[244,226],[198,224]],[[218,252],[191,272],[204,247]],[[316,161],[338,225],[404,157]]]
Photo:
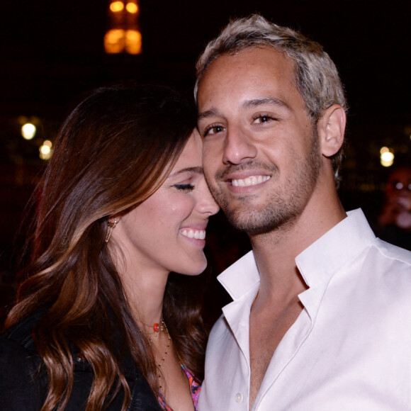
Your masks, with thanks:
[[[321,152],[325,157],[331,157],[342,146],[346,123],[347,116],[344,108],[339,104],[333,104],[327,108],[317,121]]]

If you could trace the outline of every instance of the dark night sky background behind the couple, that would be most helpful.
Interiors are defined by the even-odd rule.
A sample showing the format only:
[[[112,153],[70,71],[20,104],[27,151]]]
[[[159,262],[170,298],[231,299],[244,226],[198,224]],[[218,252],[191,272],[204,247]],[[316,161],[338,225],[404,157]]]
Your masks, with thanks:
[[[373,218],[388,170],[383,145],[411,159],[410,1],[154,1],[140,0],[143,54],[106,55],[106,0],[0,1],[0,298],[12,295],[13,237],[45,162],[43,140],[54,140],[81,93],[135,79],[161,82],[191,95],[194,64],[230,17],[261,13],[321,43],[339,68],[349,101],[347,159],[340,190],[344,206]],[[21,116],[38,122],[30,142]],[[223,268],[243,249],[232,246],[227,226],[214,231]],[[227,247],[227,255],[225,255]],[[247,247],[247,246],[244,246]],[[235,249],[234,252],[230,250]],[[237,250],[237,251],[236,251]]]

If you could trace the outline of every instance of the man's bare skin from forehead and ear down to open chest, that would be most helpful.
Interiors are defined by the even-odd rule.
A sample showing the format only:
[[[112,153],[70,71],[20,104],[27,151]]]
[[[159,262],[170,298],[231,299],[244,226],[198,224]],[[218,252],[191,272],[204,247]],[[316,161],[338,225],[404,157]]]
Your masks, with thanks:
[[[345,112],[313,124],[295,88],[293,62],[269,47],[220,55],[198,89],[203,167],[213,196],[247,232],[260,274],[249,317],[251,409],[271,357],[303,309],[307,285],[295,257],[346,217],[332,160]]]

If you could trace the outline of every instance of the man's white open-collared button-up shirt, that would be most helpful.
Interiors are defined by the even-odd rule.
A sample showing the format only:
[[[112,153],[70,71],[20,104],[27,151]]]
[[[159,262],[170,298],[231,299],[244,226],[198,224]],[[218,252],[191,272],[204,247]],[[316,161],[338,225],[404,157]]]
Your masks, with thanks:
[[[295,259],[304,309],[278,345],[253,411],[411,410],[411,252],[361,210]],[[233,302],[210,334],[199,411],[249,410],[252,252],[218,277]],[[264,330],[261,330],[264,333]]]

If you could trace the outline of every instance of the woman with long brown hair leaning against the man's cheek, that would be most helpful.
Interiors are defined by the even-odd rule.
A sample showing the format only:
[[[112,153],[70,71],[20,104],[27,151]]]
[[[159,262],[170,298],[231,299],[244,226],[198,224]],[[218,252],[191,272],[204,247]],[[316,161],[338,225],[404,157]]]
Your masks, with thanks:
[[[169,277],[205,269],[218,211],[195,125],[155,86],[98,89],[62,125],[0,339],[2,410],[195,409],[205,335]]]

